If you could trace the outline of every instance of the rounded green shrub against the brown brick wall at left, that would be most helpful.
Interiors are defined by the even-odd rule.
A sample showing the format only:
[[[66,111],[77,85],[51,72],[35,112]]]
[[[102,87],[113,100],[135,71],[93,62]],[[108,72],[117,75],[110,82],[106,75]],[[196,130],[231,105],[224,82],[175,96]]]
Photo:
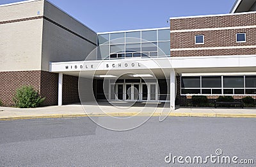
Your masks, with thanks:
[[[16,91],[13,102],[16,107],[29,108],[40,106],[44,99],[40,97],[38,91],[34,90],[32,86],[22,86]]]

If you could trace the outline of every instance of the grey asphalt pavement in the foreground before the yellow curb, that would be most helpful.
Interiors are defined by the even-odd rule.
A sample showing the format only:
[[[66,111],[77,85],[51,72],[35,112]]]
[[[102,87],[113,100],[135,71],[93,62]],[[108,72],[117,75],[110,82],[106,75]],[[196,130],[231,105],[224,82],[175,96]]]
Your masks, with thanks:
[[[99,119],[102,119],[99,117]],[[255,118],[152,117],[131,131],[109,131],[90,118],[0,122],[0,166],[253,166],[173,164],[166,156],[255,159]],[[255,162],[254,162],[255,163]]]

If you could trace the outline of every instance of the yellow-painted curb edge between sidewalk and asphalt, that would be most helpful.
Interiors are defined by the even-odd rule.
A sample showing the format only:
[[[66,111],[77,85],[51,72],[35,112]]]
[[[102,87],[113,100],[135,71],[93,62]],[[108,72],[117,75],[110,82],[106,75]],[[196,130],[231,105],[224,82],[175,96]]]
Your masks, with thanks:
[[[137,113],[106,113],[106,114],[77,114],[77,115],[42,115],[42,116],[10,116],[2,117],[0,120],[31,120],[39,118],[74,118],[90,116],[135,116]],[[160,113],[143,113],[137,116],[159,116]],[[256,118],[256,114],[230,114],[230,113],[170,113],[168,116],[187,116],[187,117],[222,117],[222,118]]]

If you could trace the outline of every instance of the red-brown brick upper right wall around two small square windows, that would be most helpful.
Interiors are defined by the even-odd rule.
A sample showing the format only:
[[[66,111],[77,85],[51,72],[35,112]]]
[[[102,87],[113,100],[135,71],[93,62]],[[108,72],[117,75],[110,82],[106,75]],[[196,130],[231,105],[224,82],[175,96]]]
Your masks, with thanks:
[[[171,19],[171,56],[228,56],[256,54],[256,28],[204,30],[205,28],[227,28],[255,26],[256,13],[215,17]],[[193,31],[186,31],[193,29]],[[200,31],[198,31],[200,29]],[[202,31],[204,30],[204,31]],[[236,33],[246,33],[246,42],[236,42]],[[195,36],[204,35],[204,44],[196,45]],[[250,46],[252,48],[236,48]],[[207,49],[205,49],[207,47]],[[232,47],[232,48],[222,48]]]

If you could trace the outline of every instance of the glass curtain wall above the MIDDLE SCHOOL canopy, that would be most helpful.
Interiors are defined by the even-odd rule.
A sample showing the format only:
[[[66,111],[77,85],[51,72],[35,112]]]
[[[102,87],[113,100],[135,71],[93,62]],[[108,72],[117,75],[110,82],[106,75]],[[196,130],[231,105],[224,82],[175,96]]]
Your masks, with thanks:
[[[170,29],[100,33],[98,46],[98,60],[170,56]]]

